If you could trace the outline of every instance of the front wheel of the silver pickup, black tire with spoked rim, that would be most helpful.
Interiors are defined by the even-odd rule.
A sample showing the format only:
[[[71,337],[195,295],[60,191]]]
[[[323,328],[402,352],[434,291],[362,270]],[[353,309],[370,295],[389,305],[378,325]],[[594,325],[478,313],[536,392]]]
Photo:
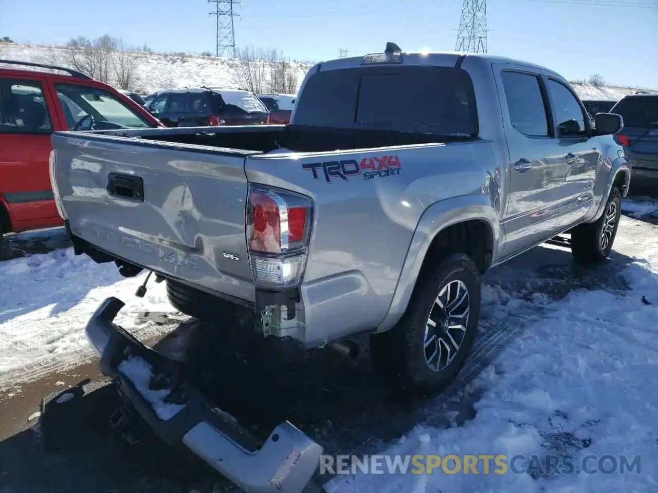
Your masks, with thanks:
[[[621,193],[617,187],[610,191],[603,214],[594,223],[580,224],[571,231],[571,253],[581,264],[603,262],[613,248],[619,218],[621,216]],[[605,241],[604,232],[606,235]]]

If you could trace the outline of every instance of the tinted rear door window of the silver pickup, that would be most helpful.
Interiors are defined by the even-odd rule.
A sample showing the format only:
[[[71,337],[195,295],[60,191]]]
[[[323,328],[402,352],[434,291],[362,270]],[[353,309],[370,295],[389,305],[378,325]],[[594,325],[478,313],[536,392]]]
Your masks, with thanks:
[[[501,72],[507,111],[512,126],[530,137],[547,137],[548,118],[538,76]]]

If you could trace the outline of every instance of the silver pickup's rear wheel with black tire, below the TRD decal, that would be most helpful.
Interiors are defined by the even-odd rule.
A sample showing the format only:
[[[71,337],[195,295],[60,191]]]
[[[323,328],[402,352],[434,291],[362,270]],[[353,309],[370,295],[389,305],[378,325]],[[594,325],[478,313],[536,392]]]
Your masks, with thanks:
[[[390,331],[370,336],[370,354],[376,369],[384,373],[387,378],[393,379],[394,383],[403,390],[413,393],[437,392],[457,377],[472,348],[480,319],[478,268],[467,255],[452,254],[438,264],[426,266],[424,270],[402,318]],[[455,328],[455,325],[448,331],[451,339],[458,341],[459,348],[454,356],[445,367],[435,365],[435,368],[431,368],[430,363],[435,360],[427,358],[427,356],[428,353],[434,353],[432,344],[436,344],[434,349],[437,352],[438,346],[441,346],[442,352],[447,351],[448,347],[443,346],[438,340],[445,338],[449,344],[446,333],[449,323],[444,325],[440,321],[440,317],[445,316],[445,311],[436,302],[439,296],[442,298],[440,301],[445,300],[442,291],[448,285],[451,289],[456,289],[454,287],[458,285],[460,289],[465,287],[468,294],[468,319],[467,323],[463,324],[465,330],[461,333],[458,327]],[[457,299],[459,296],[461,294],[458,291]],[[453,312],[456,312],[457,308],[465,310],[464,307],[465,304],[457,304],[453,307]],[[459,313],[456,316],[453,315],[453,322],[459,315]],[[436,319],[434,323],[436,323],[436,329],[439,329],[434,335],[434,342],[432,342],[431,332],[435,329],[430,326],[430,316],[433,320]],[[428,337],[426,337],[426,328]],[[439,334],[439,332],[441,333]],[[426,346],[427,340],[430,340],[430,346]],[[450,346],[455,348],[453,344]],[[438,355],[438,358],[441,356],[442,353]]]

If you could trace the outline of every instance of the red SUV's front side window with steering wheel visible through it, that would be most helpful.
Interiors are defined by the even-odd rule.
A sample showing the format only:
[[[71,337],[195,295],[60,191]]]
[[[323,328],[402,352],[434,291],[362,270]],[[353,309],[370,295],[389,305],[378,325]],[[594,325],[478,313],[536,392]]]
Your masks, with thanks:
[[[155,128],[111,93],[95,87],[55,84],[70,130]]]

